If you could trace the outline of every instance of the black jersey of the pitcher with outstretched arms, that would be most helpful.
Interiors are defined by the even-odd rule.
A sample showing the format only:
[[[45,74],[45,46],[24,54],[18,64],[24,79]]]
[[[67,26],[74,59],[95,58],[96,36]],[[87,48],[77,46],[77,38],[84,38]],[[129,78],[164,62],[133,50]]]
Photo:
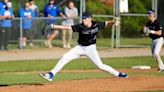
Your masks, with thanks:
[[[92,21],[91,27],[84,26],[83,23],[73,25],[73,32],[79,33],[78,44],[82,46],[89,46],[96,43],[96,35],[99,30],[105,27],[105,22]]]

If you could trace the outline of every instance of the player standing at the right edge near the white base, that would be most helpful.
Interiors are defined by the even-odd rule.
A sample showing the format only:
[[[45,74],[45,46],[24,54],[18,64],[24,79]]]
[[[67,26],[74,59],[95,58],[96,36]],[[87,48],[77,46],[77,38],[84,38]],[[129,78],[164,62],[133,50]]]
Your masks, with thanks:
[[[149,21],[146,24],[146,32],[147,35],[152,39],[152,45],[151,45],[152,55],[157,61],[159,72],[164,71],[164,64],[159,54],[163,45],[163,35],[162,35],[163,29],[159,25],[157,19],[155,19],[154,10],[148,11],[148,19]]]

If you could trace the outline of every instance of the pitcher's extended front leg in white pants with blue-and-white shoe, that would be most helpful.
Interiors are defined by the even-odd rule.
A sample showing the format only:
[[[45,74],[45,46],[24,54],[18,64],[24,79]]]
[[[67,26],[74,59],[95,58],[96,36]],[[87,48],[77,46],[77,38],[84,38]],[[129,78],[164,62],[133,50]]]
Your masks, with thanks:
[[[79,45],[77,45],[76,47],[65,53],[49,73],[40,73],[41,77],[48,81],[52,81],[54,75],[56,75],[56,73],[58,73],[65,64],[69,63],[73,59],[79,58],[83,54],[84,50]]]

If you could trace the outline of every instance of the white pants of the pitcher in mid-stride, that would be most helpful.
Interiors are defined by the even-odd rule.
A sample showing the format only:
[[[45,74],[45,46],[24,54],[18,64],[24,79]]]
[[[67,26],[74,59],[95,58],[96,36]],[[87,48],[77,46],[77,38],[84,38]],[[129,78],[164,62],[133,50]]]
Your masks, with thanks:
[[[62,58],[59,60],[59,62],[50,72],[52,72],[55,75],[57,72],[59,72],[62,69],[62,67],[65,64],[69,63],[73,59],[79,58],[82,55],[87,56],[98,68],[106,72],[109,72],[115,76],[119,75],[118,71],[102,63],[98,55],[98,52],[96,50],[95,44],[90,46],[81,46],[81,45],[75,46],[74,48],[72,48],[70,51],[68,51],[62,56]]]

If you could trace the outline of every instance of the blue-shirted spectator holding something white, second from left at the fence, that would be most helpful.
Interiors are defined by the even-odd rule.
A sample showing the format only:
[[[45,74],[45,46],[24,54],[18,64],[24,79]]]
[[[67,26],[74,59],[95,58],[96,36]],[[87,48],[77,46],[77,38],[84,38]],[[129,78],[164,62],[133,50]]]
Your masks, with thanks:
[[[26,46],[27,38],[30,40],[30,44],[33,39],[33,31],[31,30],[32,18],[35,16],[34,12],[30,9],[29,2],[25,3],[24,8],[19,10],[19,16],[22,18],[22,29],[23,29],[23,37],[19,38],[19,48],[24,48]]]

